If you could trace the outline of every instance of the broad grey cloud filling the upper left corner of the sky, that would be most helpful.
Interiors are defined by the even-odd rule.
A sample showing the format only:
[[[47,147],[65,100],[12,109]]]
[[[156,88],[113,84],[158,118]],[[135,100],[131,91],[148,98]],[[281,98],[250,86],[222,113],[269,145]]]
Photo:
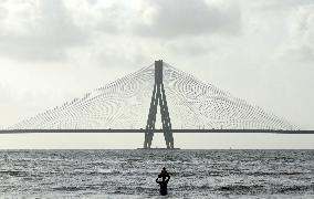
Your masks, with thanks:
[[[19,61],[60,61],[66,50],[86,42],[61,0],[2,2],[8,14],[0,27],[1,56]]]

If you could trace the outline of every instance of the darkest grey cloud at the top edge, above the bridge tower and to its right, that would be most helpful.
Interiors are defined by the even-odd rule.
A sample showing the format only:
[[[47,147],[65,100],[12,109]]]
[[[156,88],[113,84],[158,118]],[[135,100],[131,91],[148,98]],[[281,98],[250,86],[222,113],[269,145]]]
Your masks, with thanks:
[[[234,34],[241,29],[240,9],[232,3],[203,0],[158,0],[143,3],[135,32],[145,36],[176,38]]]

